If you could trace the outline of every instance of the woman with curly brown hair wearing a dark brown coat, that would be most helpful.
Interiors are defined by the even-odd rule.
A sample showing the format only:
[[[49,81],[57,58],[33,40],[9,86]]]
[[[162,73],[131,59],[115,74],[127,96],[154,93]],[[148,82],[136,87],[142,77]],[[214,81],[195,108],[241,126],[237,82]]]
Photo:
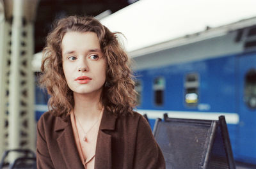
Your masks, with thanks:
[[[133,112],[128,63],[116,33],[94,18],[56,23],[42,60],[51,98],[38,121],[38,168],[165,168],[147,121]]]

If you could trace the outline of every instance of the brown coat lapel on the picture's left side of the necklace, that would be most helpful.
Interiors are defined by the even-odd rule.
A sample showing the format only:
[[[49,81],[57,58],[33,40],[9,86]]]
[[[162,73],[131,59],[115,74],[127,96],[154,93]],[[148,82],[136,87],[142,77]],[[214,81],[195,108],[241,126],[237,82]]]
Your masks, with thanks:
[[[67,168],[84,168],[74,140],[70,115],[67,117],[66,121],[63,121],[61,118],[58,119],[55,131],[61,132],[60,136],[57,138],[57,142]]]

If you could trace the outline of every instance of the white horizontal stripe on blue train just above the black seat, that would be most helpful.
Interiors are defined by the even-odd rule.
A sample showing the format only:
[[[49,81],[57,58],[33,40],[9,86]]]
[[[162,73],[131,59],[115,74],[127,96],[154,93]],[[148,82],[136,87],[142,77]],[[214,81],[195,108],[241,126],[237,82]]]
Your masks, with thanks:
[[[170,111],[170,110],[136,110],[141,115],[147,114],[148,119],[163,119],[163,114],[168,113],[168,117],[182,118],[182,119],[205,119],[205,120],[218,120],[220,115],[225,115],[227,124],[238,124],[239,115],[236,113],[227,112],[182,112],[182,111]]]

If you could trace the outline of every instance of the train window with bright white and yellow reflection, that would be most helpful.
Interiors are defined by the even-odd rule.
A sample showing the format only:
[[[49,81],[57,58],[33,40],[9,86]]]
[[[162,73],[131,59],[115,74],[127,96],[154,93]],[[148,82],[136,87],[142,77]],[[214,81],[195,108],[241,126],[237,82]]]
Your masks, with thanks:
[[[186,75],[184,89],[185,89],[185,103],[188,107],[196,107],[198,105],[198,88],[199,80],[197,73],[189,73]]]

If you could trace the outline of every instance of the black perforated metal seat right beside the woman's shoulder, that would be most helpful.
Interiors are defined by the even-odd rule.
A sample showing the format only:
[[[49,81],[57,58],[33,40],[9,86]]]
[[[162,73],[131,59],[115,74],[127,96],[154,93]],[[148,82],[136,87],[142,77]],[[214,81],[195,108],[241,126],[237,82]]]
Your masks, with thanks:
[[[154,136],[166,168],[236,168],[224,116],[218,121],[157,119]]]

